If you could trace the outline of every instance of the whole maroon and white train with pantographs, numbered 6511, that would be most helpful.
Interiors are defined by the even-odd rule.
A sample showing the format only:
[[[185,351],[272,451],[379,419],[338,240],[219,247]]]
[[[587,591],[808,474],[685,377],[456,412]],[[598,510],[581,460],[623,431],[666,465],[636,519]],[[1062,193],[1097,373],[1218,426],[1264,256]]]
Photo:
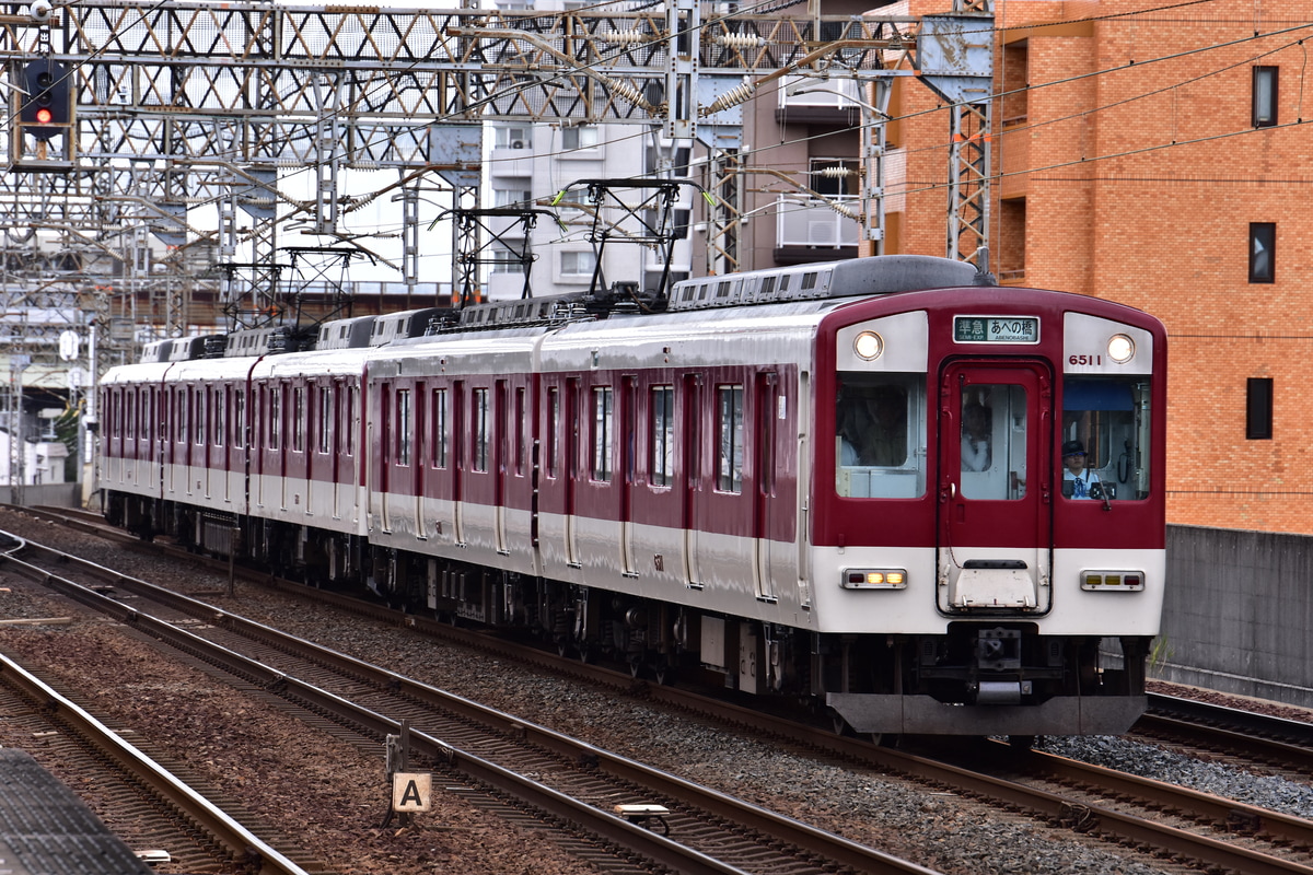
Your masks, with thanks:
[[[161,341],[101,383],[106,516],[859,732],[1130,727],[1157,319],[919,256],[601,298]]]

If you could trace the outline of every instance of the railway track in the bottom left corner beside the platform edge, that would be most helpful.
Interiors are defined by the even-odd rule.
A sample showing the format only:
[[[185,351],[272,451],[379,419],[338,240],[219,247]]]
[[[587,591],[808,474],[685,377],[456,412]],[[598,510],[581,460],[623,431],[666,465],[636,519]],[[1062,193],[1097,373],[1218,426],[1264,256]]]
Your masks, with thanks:
[[[81,781],[108,788],[114,809],[133,811],[138,836],[148,847],[168,849],[175,866],[186,871],[239,867],[252,875],[323,871],[253,834],[222,805],[7,656],[0,656],[0,708],[7,720],[22,722],[32,737],[41,739],[47,757],[71,763]]]

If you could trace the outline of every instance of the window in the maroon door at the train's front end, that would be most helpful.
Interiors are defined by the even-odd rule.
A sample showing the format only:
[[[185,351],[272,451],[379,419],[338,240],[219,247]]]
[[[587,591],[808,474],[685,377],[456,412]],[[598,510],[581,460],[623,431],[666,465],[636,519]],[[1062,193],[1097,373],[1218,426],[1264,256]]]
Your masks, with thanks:
[[[964,497],[1025,497],[1025,387],[1012,383],[974,383],[962,391],[958,438]]]

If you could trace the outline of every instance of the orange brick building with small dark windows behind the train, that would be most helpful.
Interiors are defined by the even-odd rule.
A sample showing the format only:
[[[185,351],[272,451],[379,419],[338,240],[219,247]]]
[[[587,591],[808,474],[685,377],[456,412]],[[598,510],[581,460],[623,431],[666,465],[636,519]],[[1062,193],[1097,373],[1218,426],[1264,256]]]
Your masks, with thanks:
[[[991,268],[1166,323],[1174,523],[1313,533],[1310,12],[995,5]],[[885,251],[943,254],[947,112],[911,77],[890,110]]]

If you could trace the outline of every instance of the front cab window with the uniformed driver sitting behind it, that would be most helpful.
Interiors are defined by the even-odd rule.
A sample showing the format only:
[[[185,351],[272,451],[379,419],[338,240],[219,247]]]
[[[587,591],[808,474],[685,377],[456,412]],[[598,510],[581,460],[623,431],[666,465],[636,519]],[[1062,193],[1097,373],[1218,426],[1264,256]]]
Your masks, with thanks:
[[[1079,442],[1083,479],[1099,484],[1090,489],[1095,493],[1091,497],[1148,497],[1152,415],[1149,380],[1144,376],[1069,375],[1062,380],[1062,445]],[[1057,466],[1061,474],[1061,458]],[[1074,497],[1073,487],[1064,479],[1064,497]]]

